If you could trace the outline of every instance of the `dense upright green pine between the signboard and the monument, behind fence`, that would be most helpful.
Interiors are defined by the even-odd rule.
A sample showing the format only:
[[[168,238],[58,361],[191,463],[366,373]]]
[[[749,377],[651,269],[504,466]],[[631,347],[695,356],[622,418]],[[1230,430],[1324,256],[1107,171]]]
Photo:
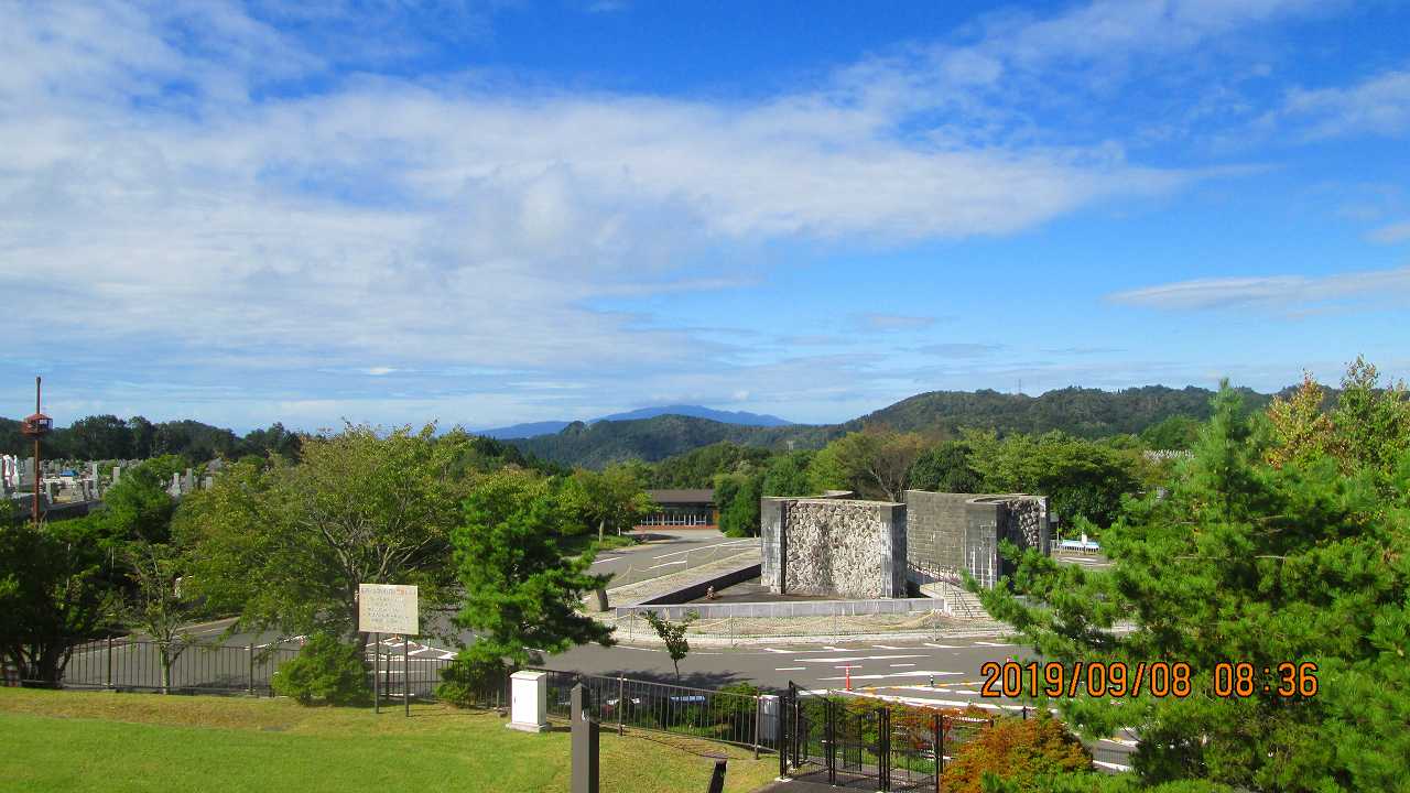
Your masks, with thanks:
[[[612,643],[612,628],[578,612],[585,593],[608,576],[589,571],[592,553],[564,557],[557,539],[564,519],[550,483],[506,468],[475,481],[454,529],[455,564],[464,605],[454,622],[474,631],[450,677],[477,677],[475,669],[508,659],[515,666],[540,653],[598,642]]]

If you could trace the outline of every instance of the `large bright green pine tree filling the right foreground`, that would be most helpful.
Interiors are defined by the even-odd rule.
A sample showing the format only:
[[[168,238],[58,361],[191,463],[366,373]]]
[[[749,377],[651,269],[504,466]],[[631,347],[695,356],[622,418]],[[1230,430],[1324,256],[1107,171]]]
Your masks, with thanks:
[[[1404,790],[1410,456],[1389,488],[1376,487],[1379,456],[1348,457],[1349,471],[1316,454],[1273,467],[1266,425],[1221,389],[1169,494],[1128,502],[1104,536],[1110,570],[1026,552],[981,600],[1050,660],[1190,665],[1187,697],[1058,701],[1089,734],[1132,728],[1148,783]],[[1228,662],[1256,672],[1248,696],[1215,696],[1215,665]],[[1279,694],[1285,662],[1316,663],[1318,694]]]

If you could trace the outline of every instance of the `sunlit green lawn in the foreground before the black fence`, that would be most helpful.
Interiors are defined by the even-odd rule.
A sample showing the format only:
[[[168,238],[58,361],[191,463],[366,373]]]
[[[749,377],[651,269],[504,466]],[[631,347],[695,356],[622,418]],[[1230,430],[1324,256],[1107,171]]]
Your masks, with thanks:
[[[0,790],[568,790],[568,734],[426,704],[375,715],[289,700],[0,689]],[[704,792],[729,758],[747,792],[778,761],[670,735],[602,732],[602,790]]]

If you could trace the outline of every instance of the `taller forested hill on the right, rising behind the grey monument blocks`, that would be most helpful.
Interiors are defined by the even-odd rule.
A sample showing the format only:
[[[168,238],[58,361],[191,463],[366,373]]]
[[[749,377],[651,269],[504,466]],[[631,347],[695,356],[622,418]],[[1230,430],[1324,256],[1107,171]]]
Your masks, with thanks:
[[[1241,388],[1245,406],[1268,406],[1270,395]],[[916,394],[874,413],[846,422],[857,430],[869,423],[901,432],[949,432],[960,428],[995,429],[1001,433],[1043,433],[1062,430],[1081,437],[1139,433],[1170,416],[1206,419],[1210,415],[1207,388],[1145,385],[1122,391],[1059,388],[1041,396],[998,391],[931,391]]]

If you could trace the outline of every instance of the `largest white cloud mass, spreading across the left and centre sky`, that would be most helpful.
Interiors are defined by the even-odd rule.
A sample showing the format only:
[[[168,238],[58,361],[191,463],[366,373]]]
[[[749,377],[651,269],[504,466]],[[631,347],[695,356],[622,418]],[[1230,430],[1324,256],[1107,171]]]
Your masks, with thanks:
[[[11,308],[7,343],[140,351],[148,370],[212,367],[248,388],[290,371],[499,371],[522,377],[520,404],[611,375],[728,398],[733,347],[595,306],[756,282],[747,251],[778,238],[1010,234],[1176,189],[1200,175],[998,130],[1060,63],[1197,47],[1301,6],[1098,1],[991,18],[969,44],[746,102],[350,75],[329,41],[269,21],[378,38],[343,3],[4,4],[0,291],[32,298]],[[393,28],[374,62],[415,48]],[[721,250],[732,255],[705,255]],[[744,264],[702,272],[701,258]],[[778,394],[860,398],[840,358],[819,365],[836,378],[799,378],[792,361],[759,373]],[[508,404],[505,374],[464,382],[470,395],[441,404]],[[292,381],[269,395],[300,416],[333,409]]]

